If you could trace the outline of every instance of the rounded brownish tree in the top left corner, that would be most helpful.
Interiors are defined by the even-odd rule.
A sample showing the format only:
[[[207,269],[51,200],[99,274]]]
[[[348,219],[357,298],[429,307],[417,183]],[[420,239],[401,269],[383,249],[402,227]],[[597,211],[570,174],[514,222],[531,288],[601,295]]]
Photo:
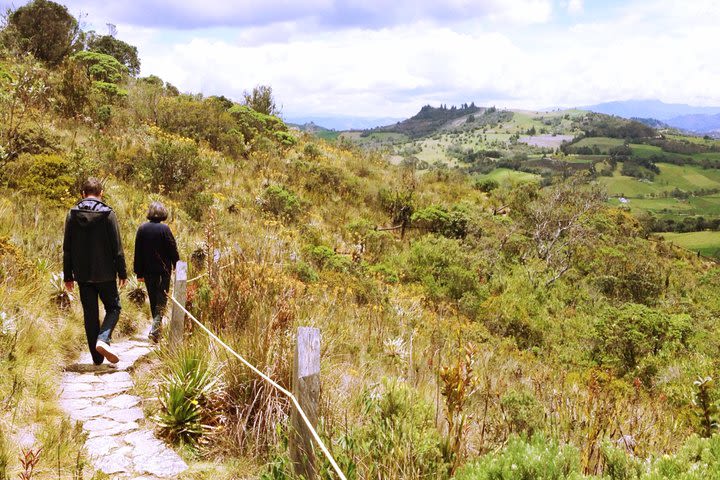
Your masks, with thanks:
[[[49,0],[33,0],[8,16],[3,39],[12,39],[21,52],[55,66],[80,49],[80,26],[67,7]]]

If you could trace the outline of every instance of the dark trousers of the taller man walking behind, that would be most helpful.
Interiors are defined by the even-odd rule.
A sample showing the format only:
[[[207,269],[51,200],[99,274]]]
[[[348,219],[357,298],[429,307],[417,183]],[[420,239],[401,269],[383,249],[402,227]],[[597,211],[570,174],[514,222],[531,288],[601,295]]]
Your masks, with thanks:
[[[112,332],[120,318],[120,295],[118,294],[117,282],[101,283],[79,283],[80,302],[83,306],[85,317],[85,336],[88,340],[90,354],[93,362],[99,365],[103,362],[103,356],[95,351],[95,344],[98,340],[110,343]],[[105,318],[100,325],[100,312],[98,311],[98,297],[105,307]]]

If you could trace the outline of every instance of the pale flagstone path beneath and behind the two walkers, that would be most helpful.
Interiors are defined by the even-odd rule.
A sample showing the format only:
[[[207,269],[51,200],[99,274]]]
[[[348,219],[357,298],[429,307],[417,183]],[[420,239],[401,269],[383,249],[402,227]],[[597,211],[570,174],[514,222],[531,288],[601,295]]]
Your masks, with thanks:
[[[148,342],[126,340],[112,345],[117,367],[96,367],[90,353],[63,374],[60,405],[70,418],[83,422],[86,451],[92,465],[113,479],[175,478],[185,462],[143,426],[140,398],[130,395],[128,369],[150,352]]]

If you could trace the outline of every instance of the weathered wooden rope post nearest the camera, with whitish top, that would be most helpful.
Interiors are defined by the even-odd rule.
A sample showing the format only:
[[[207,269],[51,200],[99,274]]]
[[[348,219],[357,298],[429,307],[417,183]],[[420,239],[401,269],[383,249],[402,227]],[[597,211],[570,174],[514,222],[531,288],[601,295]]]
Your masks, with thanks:
[[[320,402],[320,330],[311,327],[298,328],[293,364],[293,395],[310,420],[317,426]],[[312,434],[296,409],[291,415],[290,458],[295,473],[307,480],[317,477]]]

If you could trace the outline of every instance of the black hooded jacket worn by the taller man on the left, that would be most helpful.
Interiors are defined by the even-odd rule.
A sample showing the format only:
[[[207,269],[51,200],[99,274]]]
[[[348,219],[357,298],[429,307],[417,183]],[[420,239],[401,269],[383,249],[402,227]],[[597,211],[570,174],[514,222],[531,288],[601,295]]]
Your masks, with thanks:
[[[117,217],[100,200],[86,198],[68,212],[63,274],[66,282],[100,283],[127,278]]]

